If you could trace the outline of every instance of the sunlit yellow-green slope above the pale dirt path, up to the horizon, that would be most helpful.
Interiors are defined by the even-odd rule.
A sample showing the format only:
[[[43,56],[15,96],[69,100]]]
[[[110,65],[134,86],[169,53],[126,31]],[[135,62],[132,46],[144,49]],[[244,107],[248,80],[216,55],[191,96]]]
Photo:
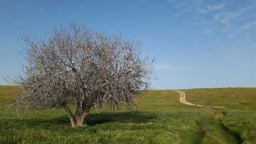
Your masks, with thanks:
[[[183,90],[189,102],[228,108],[255,108],[256,88],[212,88]]]

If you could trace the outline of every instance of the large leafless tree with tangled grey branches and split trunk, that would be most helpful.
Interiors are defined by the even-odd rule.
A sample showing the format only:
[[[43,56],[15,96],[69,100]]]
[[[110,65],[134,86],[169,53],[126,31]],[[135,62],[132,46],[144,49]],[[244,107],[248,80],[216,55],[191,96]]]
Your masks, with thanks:
[[[156,57],[140,57],[140,42],[109,36],[84,25],[69,23],[47,32],[45,39],[23,35],[27,47],[20,54],[27,61],[22,73],[4,78],[19,87],[6,108],[15,113],[64,108],[72,127],[86,126],[89,110],[110,107],[136,109],[134,99],[152,89]],[[76,106],[75,115],[69,109]]]

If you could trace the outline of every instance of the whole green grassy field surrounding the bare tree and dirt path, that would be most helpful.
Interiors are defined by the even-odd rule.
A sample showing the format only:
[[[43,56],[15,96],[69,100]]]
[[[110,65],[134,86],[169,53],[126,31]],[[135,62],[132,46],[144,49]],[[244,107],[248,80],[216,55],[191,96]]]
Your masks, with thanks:
[[[75,128],[63,109],[31,113],[22,119],[8,110],[0,113],[0,143],[256,143],[256,88],[181,91],[187,101],[205,106],[180,103],[180,94],[174,90],[154,90],[137,101],[140,112],[90,111],[88,126]],[[7,97],[13,97],[12,88],[0,86],[0,102]]]

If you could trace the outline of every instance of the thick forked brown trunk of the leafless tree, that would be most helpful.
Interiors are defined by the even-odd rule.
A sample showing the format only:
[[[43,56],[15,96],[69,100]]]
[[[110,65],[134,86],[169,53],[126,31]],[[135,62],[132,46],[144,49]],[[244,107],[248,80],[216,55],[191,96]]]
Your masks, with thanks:
[[[66,104],[62,104],[62,106],[68,113],[72,127],[86,126],[86,122],[88,120],[88,115],[89,115],[89,110],[91,108],[91,105],[85,105],[83,107],[77,106],[75,116],[72,114],[71,110],[68,108],[68,106]]]

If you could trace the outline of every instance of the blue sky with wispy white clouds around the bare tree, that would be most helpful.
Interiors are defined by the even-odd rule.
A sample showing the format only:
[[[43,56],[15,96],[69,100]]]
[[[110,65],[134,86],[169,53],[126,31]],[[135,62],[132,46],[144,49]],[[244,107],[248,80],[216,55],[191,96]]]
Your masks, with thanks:
[[[0,0],[0,85],[26,63],[20,35],[68,21],[141,41],[155,89],[256,87],[254,0]]]

